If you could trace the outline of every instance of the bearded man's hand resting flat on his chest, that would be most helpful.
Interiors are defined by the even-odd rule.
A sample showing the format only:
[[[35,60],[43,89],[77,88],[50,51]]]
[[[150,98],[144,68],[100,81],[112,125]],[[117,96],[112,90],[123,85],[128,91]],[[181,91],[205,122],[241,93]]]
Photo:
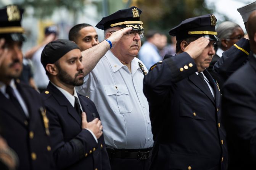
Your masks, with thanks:
[[[93,121],[91,122],[87,122],[85,112],[82,112],[82,129],[90,129],[97,139],[100,138],[103,134],[101,121],[98,118],[96,118],[93,119]]]

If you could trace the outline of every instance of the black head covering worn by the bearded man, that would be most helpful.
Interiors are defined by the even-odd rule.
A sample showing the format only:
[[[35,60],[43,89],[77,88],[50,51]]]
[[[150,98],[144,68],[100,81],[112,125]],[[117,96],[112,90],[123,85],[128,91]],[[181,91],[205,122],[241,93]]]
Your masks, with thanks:
[[[41,63],[45,68],[47,64],[53,64],[72,49],[79,49],[76,43],[70,40],[56,40],[48,43],[42,51]]]

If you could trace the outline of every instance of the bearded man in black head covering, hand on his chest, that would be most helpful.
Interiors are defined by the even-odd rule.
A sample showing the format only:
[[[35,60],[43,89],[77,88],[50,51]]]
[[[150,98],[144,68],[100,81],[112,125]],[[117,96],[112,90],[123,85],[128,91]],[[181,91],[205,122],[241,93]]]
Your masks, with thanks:
[[[48,43],[41,62],[50,83],[41,94],[50,122],[53,156],[58,169],[110,170],[98,112],[93,102],[77,94],[84,66],[79,47],[69,40]]]

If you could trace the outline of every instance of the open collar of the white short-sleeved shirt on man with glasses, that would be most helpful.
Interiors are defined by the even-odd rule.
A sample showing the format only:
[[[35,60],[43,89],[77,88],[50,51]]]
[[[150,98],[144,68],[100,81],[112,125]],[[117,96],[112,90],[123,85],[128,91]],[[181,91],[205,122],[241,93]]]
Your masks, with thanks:
[[[113,72],[118,71],[122,67],[126,67],[126,65],[122,64],[121,61],[116,56],[114,56],[114,54],[110,50],[106,52],[105,56],[108,59]],[[139,69],[138,63],[135,59],[133,59],[131,62],[131,69],[132,75]]]

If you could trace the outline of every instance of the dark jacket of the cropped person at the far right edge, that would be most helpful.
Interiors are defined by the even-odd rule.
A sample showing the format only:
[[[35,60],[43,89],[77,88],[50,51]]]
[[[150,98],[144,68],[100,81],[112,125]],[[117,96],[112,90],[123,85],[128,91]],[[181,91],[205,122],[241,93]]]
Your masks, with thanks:
[[[256,167],[256,59],[233,73],[223,88],[230,170]]]

